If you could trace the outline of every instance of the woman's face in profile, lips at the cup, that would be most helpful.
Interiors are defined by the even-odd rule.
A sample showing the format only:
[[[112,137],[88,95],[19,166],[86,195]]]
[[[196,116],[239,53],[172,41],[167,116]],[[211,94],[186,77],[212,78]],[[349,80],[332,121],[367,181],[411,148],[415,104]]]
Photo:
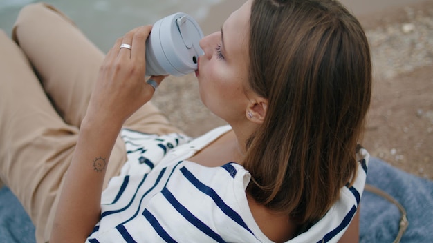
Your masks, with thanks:
[[[248,37],[251,1],[233,12],[220,32],[200,41],[199,90],[203,104],[232,123],[245,118],[248,106]]]

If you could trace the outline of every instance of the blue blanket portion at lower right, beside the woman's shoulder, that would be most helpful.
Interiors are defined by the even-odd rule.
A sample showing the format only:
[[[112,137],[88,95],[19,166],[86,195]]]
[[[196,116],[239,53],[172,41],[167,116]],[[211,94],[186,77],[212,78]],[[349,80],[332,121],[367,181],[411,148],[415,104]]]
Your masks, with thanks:
[[[433,242],[433,182],[370,159],[367,184],[394,197],[407,211],[409,227],[401,242]],[[360,242],[393,242],[398,234],[400,211],[374,193],[362,195]]]

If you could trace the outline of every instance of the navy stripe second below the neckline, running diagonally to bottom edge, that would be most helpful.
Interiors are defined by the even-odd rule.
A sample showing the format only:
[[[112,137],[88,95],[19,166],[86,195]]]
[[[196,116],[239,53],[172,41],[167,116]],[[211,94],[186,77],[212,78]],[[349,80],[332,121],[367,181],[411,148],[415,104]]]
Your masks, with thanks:
[[[186,220],[188,220],[192,225],[196,226],[197,229],[214,239],[216,242],[225,242],[220,235],[212,231],[209,226],[201,222],[201,220],[199,220],[187,208],[185,208],[185,206],[183,206],[178,200],[176,200],[174,195],[170,193],[167,188],[164,188],[161,193],[163,193],[164,197],[168,200],[168,202],[172,204],[172,206],[176,208],[176,210],[181,213],[181,215],[185,217]]]

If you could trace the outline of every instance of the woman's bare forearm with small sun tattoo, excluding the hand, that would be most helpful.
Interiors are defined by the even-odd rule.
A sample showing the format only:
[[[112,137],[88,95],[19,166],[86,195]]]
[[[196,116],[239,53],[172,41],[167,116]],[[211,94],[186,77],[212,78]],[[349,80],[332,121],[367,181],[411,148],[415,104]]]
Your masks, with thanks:
[[[85,119],[57,206],[52,242],[84,242],[100,218],[109,155],[120,126]]]

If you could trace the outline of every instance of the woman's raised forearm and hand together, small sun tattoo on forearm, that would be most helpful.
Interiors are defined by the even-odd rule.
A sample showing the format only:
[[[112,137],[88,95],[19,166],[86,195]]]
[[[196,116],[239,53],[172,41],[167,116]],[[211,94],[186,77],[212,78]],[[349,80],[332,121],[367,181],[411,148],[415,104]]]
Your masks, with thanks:
[[[105,57],[82,122],[51,232],[51,242],[84,242],[100,219],[100,201],[109,156],[123,122],[151,99],[146,83],[142,26],[116,41]],[[134,48],[119,48],[135,43]],[[158,84],[164,76],[151,77]]]

